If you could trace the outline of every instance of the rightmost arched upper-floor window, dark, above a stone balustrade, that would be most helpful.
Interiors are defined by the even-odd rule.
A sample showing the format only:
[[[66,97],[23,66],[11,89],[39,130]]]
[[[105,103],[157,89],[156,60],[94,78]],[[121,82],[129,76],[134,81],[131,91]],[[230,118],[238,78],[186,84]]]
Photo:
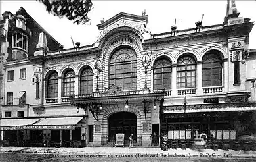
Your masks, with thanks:
[[[218,51],[209,51],[202,58],[202,86],[222,85],[223,59]]]

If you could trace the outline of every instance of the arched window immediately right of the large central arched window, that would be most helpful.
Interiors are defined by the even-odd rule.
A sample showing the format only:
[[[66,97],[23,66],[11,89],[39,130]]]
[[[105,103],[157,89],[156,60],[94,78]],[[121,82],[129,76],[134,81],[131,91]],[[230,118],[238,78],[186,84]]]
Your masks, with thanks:
[[[154,89],[171,89],[171,61],[166,58],[154,63]]]

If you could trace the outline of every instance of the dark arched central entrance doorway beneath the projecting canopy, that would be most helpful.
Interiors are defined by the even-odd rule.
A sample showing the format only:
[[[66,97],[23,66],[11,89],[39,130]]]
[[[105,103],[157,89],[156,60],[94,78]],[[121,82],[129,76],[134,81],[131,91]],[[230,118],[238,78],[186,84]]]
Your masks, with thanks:
[[[116,134],[125,134],[125,142],[129,142],[129,136],[137,141],[137,116],[134,113],[120,112],[110,115],[108,118],[108,141],[116,139]]]

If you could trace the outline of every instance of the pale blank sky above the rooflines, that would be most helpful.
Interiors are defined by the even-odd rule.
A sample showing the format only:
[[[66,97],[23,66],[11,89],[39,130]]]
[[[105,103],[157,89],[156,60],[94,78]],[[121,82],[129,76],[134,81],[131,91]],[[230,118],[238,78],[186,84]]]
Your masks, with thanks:
[[[72,40],[80,42],[81,46],[91,45],[99,35],[97,24],[100,20],[108,20],[119,14],[141,15],[146,10],[148,25],[152,34],[171,31],[171,26],[177,19],[177,30],[194,28],[204,14],[203,26],[222,24],[226,15],[226,0],[219,1],[92,1],[93,9],[90,11],[91,25],[73,24],[67,18],[58,18],[48,14],[43,3],[36,0],[12,1],[1,0],[0,12],[10,11],[15,14],[23,7],[56,41],[64,45],[64,49],[72,48]],[[236,8],[240,17],[251,18],[256,21],[256,1],[236,1]],[[256,26],[249,35],[249,48],[256,49]]]

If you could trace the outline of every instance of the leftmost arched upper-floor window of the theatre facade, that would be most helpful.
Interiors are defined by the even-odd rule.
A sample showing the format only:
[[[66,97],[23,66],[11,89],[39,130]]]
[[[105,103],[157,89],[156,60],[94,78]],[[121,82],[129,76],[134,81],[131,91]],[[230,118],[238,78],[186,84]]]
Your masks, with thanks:
[[[47,97],[58,97],[58,73],[51,72],[47,80]]]

